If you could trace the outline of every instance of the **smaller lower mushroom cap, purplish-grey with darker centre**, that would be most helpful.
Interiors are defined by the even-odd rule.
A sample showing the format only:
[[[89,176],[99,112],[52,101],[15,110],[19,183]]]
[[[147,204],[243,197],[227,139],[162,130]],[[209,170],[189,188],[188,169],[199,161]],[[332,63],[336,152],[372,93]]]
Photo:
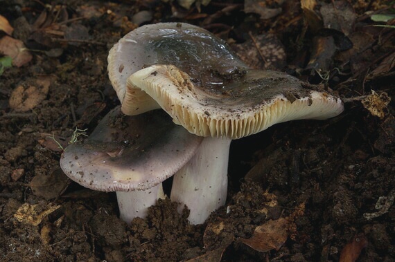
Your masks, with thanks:
[[[173,176],[201,142],[173,124],[164,111],[125,116],[117,107],[89,138],[64,150],[60,167],[71,180],[90,189],[145,190]]]

